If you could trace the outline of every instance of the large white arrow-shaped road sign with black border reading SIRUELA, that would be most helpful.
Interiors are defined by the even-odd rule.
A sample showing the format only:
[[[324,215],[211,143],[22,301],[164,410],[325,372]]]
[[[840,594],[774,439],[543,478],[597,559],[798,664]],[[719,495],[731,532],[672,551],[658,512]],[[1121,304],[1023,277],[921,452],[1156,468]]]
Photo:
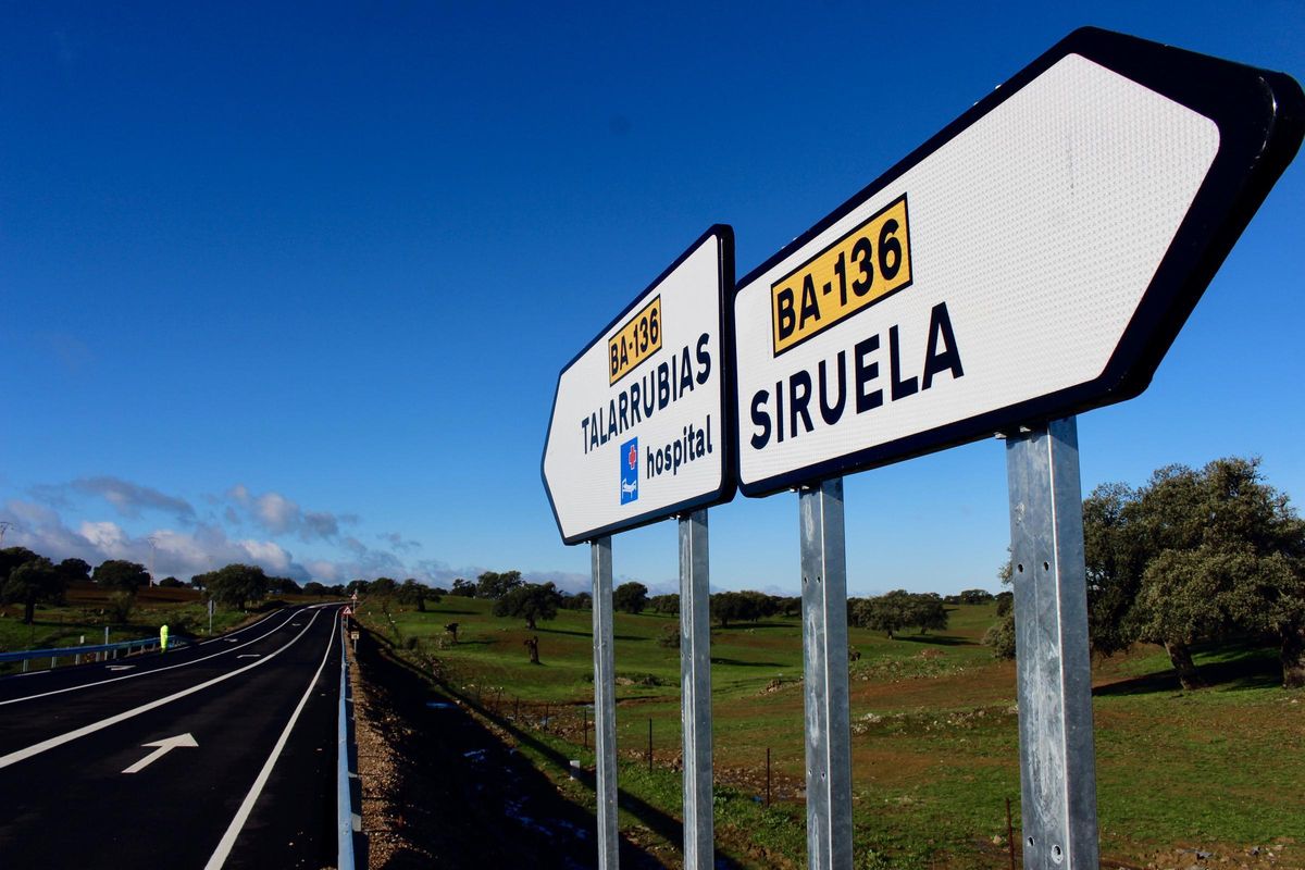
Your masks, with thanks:
[[[744,494],[1144,390],[1302,106],[1282,73],[1070,34],[739,283]]]

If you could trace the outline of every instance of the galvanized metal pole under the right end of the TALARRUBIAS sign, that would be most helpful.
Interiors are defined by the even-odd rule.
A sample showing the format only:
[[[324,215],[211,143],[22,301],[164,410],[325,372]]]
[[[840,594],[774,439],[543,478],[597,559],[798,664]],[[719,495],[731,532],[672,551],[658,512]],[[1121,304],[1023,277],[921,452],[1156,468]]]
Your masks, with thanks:
[[[680,723],[684,734],[684,866],[715,866],[711,809],[711,601],[707,511],[680,518]]]

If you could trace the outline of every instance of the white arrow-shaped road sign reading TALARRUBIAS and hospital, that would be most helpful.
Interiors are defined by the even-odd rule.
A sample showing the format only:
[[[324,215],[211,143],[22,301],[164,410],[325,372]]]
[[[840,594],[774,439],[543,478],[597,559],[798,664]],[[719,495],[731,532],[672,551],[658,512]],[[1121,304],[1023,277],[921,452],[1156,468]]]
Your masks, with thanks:
[[[732,280],[733,235],[713,227],[562,369],[543,479],[568,544],[733,496]]]

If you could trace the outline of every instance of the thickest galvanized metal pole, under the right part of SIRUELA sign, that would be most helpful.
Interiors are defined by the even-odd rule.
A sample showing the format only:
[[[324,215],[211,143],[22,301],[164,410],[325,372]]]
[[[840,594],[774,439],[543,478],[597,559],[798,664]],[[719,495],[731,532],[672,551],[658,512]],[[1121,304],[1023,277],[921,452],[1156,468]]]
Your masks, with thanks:
[[[1096,757],[1074,417],[1006,440],[1027,870],[1096,870]]]

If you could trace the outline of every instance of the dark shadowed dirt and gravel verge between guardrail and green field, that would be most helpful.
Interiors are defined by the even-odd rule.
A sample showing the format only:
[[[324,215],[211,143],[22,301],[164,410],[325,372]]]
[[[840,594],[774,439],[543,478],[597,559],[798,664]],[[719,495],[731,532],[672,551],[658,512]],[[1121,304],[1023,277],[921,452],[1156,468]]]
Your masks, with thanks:
[[[596,866],[592,810],[566,800],[466,699],[365,630],[354,673],[368,867]],[[663,866],[628,839],[620,862]]]

